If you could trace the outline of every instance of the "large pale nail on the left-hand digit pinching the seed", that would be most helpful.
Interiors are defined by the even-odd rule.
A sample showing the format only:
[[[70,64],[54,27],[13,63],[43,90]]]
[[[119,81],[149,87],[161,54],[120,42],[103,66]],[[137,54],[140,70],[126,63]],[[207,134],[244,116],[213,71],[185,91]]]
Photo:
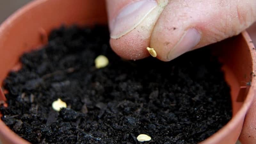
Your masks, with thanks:
[[[136,28],[156,6],[156,0],[140,0],[126,5],[110,22],[110,37],[120,38]]]

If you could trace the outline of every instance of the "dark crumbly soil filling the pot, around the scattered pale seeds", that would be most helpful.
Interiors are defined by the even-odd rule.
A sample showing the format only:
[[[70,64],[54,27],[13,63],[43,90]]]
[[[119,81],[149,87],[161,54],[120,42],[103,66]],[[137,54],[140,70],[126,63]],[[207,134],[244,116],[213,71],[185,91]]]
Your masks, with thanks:
[[[60,28],[49,44],[21,58],[4,81],[2,120],[31,143],[198,143],[231,118],[230,90],[209,49],[171,62],[126,61],[108,44],[106,27]],[[109,65],[96,69],[105,55]],[[56,112],[60,98],[68,108]]]

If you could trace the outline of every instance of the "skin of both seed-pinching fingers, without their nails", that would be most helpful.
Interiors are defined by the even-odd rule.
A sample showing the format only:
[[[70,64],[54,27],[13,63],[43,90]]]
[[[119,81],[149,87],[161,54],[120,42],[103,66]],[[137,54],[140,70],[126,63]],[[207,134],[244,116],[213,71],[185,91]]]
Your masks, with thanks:
[[[133,1],[107,2],[111,24],[120,9]],[[159,18],[156,18],[153,30],[140,29],[146,27],[147,23],[140,24],[123,37],[111,39],[110,44],[125,59],[149,56],[145,49],[150,46],[156,50],[158,59],[169,61],[168,54],[189,28],[196,28],[202,36],[199,44],[191,50],[200,48],[237,35],[249,27],[256,19],[255,7],[255,0],[170,0]]]

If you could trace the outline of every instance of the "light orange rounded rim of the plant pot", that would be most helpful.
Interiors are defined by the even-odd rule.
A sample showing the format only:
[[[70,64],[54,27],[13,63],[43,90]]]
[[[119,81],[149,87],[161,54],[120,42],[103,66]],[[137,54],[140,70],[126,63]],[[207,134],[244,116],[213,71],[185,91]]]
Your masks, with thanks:
[[[21,7],[18,9],[16,12],[14,12],[10,17],[8,17],[1,25],[0,25],[0,36],[3,33],[4,29],[10,27],[12,22],[22,16],[23,14],[27,13],[31,7],[36,7],[42,3],[45,3],[49,0],[36,0],[36,1],[31,1],[25,6]],[[242,35],[244,41],[249,47],[251,57],[252,57],[252,72],[256,72],[256,61],[253,60],[253,58],[256,58],[256,51],[252,48],[254,48],[254,45],[252,43],[252,40],[249,36],[249,34],[246,31],[243,31],[240,35]],[[1,44],[0,44],[1,47]],[[208,144],[208,143],[218,143],[220,139],[225,137],[232,129],[234,128],[234,125],[237,125],[239,122],[237,119],[244,119],[244,116],[249,109],[249,107],[252,104],[252,100],[254,97],[254,93],[256,92],[256,82],[254,79],[251,81],[251,86],[249,88],[249,92],[247,93],[246,99],[244,100],[243,105],[241,108],[238,110],[235,116],[232,116],[232,119],[224,126],[222,127],[219,131],[214,133],[212,136],[207,138],[206,140],[202,141],[202,144]],[[4,100],[6,100],[2,89],[0,89],[0,97],[2,97]],[[4,124],[4,122],[0,119],[0,139],[10,140],[12,143],[15,144],[27,144],[29,143],[28,141],[24,140],[20,136],[18,136],[16,133],[14,133],[7,125]]]

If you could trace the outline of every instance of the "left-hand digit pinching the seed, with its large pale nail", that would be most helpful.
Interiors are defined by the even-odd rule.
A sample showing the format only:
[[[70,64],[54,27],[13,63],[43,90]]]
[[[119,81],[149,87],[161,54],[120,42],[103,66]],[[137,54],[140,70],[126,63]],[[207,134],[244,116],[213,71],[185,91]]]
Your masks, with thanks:
[[[110,45],[129,60],[147,57],[150,36],[168,0],[106,0]]]

